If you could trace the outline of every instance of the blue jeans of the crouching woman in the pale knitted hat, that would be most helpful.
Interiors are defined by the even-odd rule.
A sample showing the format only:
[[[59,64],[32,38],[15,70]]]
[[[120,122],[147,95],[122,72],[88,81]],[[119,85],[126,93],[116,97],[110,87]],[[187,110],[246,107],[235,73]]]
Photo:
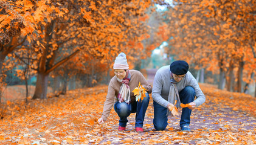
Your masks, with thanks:
[[[114,105],[114,110],[120,117],[119,126],[125,127],[128,122],[127,117],[131,113],[136,113],[135,127],[143,127],[143,121],[150,102],[150,95],[146,93],[146,97],[140,101],[134,101],[133,103],[127,104],[125,102],[119,103],[117,101]]]

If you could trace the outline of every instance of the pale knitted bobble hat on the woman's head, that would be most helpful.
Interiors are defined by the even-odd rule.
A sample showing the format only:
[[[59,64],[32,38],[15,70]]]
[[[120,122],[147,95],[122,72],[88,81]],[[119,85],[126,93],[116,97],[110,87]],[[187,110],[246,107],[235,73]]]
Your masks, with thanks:
[[[128,65],[127,59],[126,59],[126,55],[124,53],[118,54],[113,68],[114,69],[128,69],[129,68],[129,65]]]

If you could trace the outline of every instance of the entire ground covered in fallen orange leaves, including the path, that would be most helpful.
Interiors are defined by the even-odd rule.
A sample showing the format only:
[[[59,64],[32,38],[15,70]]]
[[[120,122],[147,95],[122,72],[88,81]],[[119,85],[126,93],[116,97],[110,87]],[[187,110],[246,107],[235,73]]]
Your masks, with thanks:
[[[105,124],[97,124],[107,86],[69,91],[59,98],[7,102],[0,124],[0,144],[256,144],[256,98],[220,91],[201,84],[206,103],[192,111],[192,132],[179,130],[179,117],[167,129],[153,131],[153,101],[144,132],[134,129],[135,114],[126,131],[118,131],[114,109]],[[1,106],[3,109],[4,106]]]

